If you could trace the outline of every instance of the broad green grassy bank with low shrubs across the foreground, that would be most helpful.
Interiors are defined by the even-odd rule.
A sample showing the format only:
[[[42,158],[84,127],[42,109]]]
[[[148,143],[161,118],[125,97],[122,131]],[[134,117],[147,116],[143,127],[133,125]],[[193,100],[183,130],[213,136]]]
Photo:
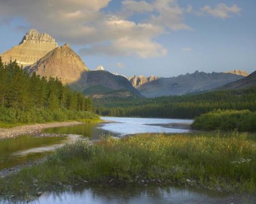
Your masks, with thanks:
[[[83,183],[161,182],[235,193],[256,192],[256,138],[246,133],[137,135],[77,141],[42,164],[0,179],[4,198],[26,198]],[[189,180],[191,182],[189,182]],[[20,191],[22,189],[22,191]]]

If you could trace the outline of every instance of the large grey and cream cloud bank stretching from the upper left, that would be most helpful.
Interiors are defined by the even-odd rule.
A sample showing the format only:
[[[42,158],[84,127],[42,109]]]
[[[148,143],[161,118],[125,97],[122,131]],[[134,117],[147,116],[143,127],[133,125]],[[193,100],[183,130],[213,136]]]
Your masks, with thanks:
[[[182,11],[177,3],[171,5],[170,0],[163,3],[157,0],[154,4],[123,1],[123,6],[132,13],[157,11],[158,14],[152,14],[147,22],[135,22],[119,12],[103,11],[110,1],[0,1],[0,19],[11,22],[13,17],[22,18],[29,28],[49,33],[58,41],[80,45],[81,54],[135,55],[143,58],[166,55],[166,48],[155,41],[166,32],[166,27],[186,28],[182,23]],[[165,6],[165,11],[161,11]],[[24,28],[18,27],[19,30]]]

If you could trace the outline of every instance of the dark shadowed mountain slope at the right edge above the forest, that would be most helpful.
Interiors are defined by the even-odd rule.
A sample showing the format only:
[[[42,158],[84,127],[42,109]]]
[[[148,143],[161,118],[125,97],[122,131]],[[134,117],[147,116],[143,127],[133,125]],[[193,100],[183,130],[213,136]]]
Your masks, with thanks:
[[[256,88],[256,71],[248,75],[248,77],[225,84],[219,89],[246,89],[250,87]]]

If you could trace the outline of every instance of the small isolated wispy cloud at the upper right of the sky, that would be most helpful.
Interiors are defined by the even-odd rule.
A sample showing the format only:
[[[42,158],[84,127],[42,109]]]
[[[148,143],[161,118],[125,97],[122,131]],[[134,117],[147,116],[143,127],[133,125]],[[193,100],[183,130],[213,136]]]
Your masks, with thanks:
[[[238,15],[241,13],[241,8],[239,8],[236,4],[233,6],[227,6],[226,4],[217,4],[215,8],[211,8],[211,6],[204,6],[200,8],[202,12],[205,14],[211,15],[212,17],[217,17],[221,19],[230,18],[232,14]]]

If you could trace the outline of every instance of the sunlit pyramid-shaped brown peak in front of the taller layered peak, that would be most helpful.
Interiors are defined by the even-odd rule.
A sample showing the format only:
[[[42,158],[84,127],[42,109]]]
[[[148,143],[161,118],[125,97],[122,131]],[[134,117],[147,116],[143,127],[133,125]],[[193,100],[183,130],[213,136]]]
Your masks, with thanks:
[[[88,68],[82,59],[65,44],[48,52],[36,63],[26,68],[31,75],[33,72],[41,77],[58,77],[63,84],[77,82]]]

